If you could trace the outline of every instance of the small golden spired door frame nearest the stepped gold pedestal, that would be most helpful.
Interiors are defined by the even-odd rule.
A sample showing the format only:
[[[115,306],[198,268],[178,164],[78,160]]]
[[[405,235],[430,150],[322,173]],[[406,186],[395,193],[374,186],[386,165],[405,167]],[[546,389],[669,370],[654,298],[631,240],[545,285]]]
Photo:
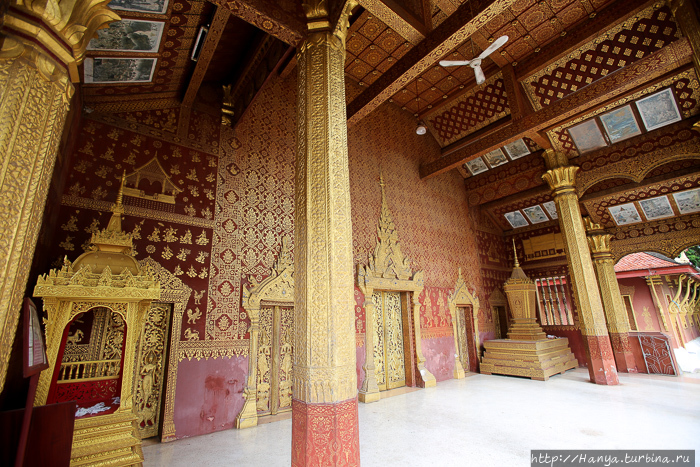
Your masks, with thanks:
[[[455,283],[455,289],[447,297],[447,306],[452,315],[452,329],[455,338],[455,368],[454,377],[464,378],[469,371],[470,358],[479,359],[479,298],[469,292],[462,277],[462,268]],[[465,313],[460,312],[465,308]],[[471,313],[469,313],[471,309]],[[471,314],[471,316],[469,316]],[[469,319],[470,322],[467,322]],[[473,339],[469,339],[469,327],[472,326]],[[470,352],[471,350],[471,352]]]

